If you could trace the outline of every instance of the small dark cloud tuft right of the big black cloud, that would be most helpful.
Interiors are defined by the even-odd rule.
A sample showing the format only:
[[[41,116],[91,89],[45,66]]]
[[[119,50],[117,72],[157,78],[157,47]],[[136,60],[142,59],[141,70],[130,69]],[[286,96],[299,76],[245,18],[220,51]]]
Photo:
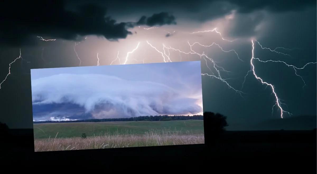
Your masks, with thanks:
[[[165,24],[176,24],[175,17],[173,15],[169,15],[167,12],[162,12],[159,14],[154,14],[151,17],[142,16],[141,19],[137,22],[138,25],[165,25]]]

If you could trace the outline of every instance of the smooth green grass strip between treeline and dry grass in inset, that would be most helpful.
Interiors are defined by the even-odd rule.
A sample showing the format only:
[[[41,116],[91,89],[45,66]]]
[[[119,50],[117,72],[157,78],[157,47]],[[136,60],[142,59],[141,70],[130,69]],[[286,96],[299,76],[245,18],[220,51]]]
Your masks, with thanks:
[[[151,129],[169,130],[170,132],[204,133],[202,120],[177,121],[109,121],[109,122],[79,122],[79,123],[39,123],[33,124],[34,138],[66,138],[81,137],[82,133],[89,136],[104,134],[145,134]]]

